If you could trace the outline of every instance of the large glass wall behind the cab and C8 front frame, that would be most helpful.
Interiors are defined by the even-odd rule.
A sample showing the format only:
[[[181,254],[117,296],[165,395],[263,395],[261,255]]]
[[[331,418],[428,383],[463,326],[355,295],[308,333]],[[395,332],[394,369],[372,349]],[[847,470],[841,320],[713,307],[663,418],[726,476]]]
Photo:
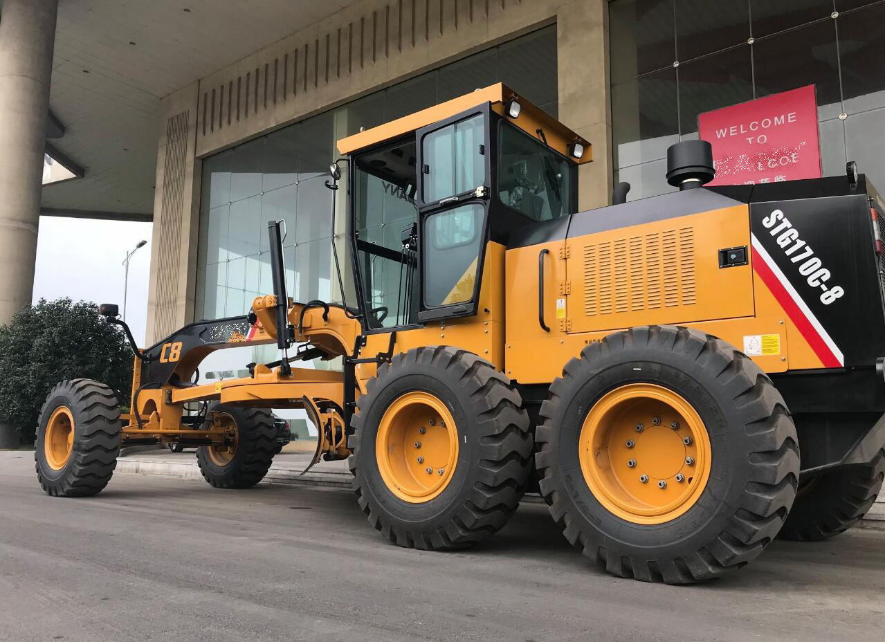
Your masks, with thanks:
[[[297,301],[340,302],[332,258],[332,192],[325,187],[335,142],[362,127],[381,125],[496,82],[505,84],[553,116],[558,111],[556,26],[544,27],[493,49],[423,73],[307,118],[203,162],[196,267],[196,318],[245,314],[259,294],[273,291],[267,223],[286,221],[283,253],[289,295]],[[401,195],[383,181],[364,197],[402,208]],[[386,190],[386,191],[385,191]],[[344,192],[339,192],[344,196]],[[396,206],[396,207],[394,207]],[[340,209],[339,209],[340,210]],[[339,221],[342,219],[339,217]],[[342,222],[335,229],[342,271]],[[348,280],[347,275],[344,275]],[[345,287],[347,287],[345,285]],[[356,298],[348,295],[353,305]],[[203,380],[242,377],[246,363],[277,358],[275,346],[230,348],[210,355]],[[311,364],[308,364],[310,367]],[[337,367],[335,362],[312,362]],[[280,413],[304,417],[298,413]],[[304,421],[293,429],[304,430]]]

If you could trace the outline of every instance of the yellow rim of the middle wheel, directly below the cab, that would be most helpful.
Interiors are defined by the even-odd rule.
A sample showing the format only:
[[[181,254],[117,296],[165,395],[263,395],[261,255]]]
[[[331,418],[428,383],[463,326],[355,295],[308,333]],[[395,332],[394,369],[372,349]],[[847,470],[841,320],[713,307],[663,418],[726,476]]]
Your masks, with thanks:
[[[381,417],[375,455],[391,493],[412,504],[430,501],[443,493],[455,473],[455,420],[435,395],[406,393]]]

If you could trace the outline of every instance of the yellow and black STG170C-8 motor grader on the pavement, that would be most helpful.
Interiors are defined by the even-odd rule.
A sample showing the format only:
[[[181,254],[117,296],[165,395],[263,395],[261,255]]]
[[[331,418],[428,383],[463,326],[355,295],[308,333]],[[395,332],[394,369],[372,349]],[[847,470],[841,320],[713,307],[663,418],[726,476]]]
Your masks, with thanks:
[[[534,490],[610,573],[684,584],[871,506],[885,205],[853,165],[704,187],[710,146],[687,141],[668,154],[676,191],[627,203],[620,185],[579,212],[589,141],[500,84],[338,149],[343,301],[288,297],[271,221],[273,294],[242,317],[142,350],[102,306],[135,351],[129,409],[96,381],[51,391],[47,493],[98,493],[120,446],[158,442],[199,447],[213,486],[255,485],[270,409],[289,408],[317,428],[313,462],[349,459],[359,507],[399,546],[480,542]],[[248,377],[196,380],[214,350],[273,343],[279,360]]]

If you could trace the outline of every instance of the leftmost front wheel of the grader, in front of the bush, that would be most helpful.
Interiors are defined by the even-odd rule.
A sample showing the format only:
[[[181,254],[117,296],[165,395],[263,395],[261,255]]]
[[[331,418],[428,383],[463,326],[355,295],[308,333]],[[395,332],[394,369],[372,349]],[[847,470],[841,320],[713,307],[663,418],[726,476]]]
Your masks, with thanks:
[[[120,429],[119,403],[108,386],[81,378],[52,388],[34,450],[43,490],[55,497],[100,493],[117,467]]]

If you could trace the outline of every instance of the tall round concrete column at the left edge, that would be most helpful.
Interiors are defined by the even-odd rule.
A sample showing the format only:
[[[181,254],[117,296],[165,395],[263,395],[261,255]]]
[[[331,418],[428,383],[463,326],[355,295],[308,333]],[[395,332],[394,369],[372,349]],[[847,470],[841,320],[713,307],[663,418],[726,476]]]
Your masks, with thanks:
[[[0,15],[0,324],[31,302],[58,0]]]

